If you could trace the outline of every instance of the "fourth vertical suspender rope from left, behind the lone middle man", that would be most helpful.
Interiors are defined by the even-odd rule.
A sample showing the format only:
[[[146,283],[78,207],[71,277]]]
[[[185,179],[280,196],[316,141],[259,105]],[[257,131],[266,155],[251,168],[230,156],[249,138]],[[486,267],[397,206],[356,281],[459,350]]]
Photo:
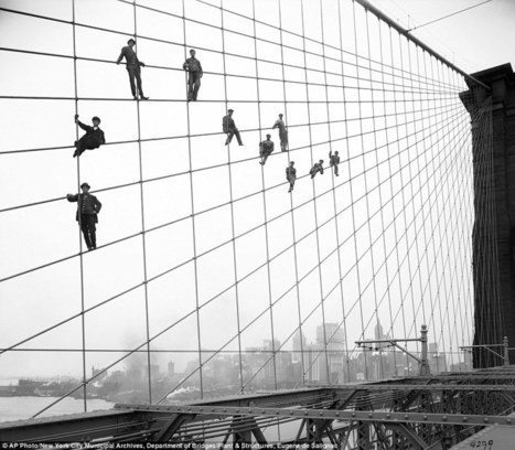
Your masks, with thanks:
[[[224,0],[221,0],[221,25],[222,25],[222,53],[224,64],[224,93],[225,93],[225,110],[227,111],[227,67],[225,55],[225,29],[224,29]],[[239,142],[238,142],[239,143]],[[238,297],[238,268],[236,266],[236,239],[234,227],[234,196],[233,196],[233,176],[232,176],[232,162],[230,162],[230,143],[227,144],[227,168],[229,172],[229,196],[230,196],[230,234],[233,237],[233,265],[234,265],[234,282],[235,282],[235,297],[236,297],[236,325],[238,329],[238,363],[239,363],[239,392],[244,390],[244,373],[243,373],[243,358],[242,358],[242,329],[239,325],[239,297]]]

